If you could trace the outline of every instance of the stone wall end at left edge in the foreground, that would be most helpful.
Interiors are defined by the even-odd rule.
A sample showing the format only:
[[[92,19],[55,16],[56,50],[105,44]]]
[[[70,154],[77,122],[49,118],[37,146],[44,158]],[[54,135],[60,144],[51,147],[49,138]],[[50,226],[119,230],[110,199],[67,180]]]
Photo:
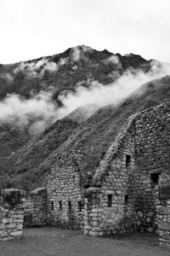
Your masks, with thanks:
[[[0,240],[20,238],[24,218],[25,191],[4,189],[0,203]]]

